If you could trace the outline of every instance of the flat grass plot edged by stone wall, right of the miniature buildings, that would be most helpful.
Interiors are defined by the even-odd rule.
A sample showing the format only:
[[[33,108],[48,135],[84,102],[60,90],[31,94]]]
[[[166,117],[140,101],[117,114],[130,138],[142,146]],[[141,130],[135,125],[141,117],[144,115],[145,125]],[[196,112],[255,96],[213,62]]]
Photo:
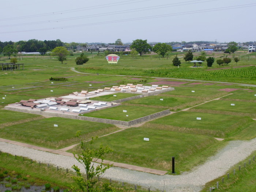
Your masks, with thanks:
[[[123,112],[123,110],[126,110],[127,112]],[[113,108],[102,109],[99,111],[86,113],[83,116],[106,118],[106,119],[113,119],[113,120],[119,120],[119,121],[131,121],[140,117],[161,112],[163,110],[165,109],[142,107],[142,106],[120,105]],[[126,115],[128,115],[128,117]]]

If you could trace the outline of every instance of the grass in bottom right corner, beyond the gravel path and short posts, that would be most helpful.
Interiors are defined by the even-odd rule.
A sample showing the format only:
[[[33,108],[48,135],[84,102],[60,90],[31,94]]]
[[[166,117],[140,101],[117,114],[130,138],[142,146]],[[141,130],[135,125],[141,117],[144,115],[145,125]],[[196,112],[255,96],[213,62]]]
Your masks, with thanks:
[[[255,178],[256,178],[256,163],[252,161],[251,165],[248,164],[248,160],[251,159],[253,155],[256,155],[256,152],[252,153],[244,161],[238,163],[237,165],[231,167],[227,173],[230,174],[230,178],[226,179],[226,175],[222,176],[225,178],[224,183],[221,182],[222,177],[219,177],[213,181],[208,182],[201,192],[208,192],[209,188],[214,186],[216,187],[217,181],[219,182],[219,189],[214,191],[229,191],[229,192],[253,192],[256,191]],[[246,162],[246,167],[242,165]],[[241,171],[238,167],[241,166]],[[233,175],[233,170],[236,169],[236,174]]]

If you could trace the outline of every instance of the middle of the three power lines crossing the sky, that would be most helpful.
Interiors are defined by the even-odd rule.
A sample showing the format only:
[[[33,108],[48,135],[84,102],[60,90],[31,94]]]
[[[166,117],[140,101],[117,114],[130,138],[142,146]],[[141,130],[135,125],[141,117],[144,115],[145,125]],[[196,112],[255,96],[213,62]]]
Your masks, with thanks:
[[[195,2],[196,1],[196,2]],[[39,21],[39,22],[28,22],[28,23],[19,23],[19,24],[10,24],[10,25],[2,25],[0,27],[11,27],[11,26],[23,26],[23,25],[34,25],[34,24],[41,24],[41,23],[53,23],[53,22],[61,22],[61,21],[67,21],[67,20],[76,20],[76,19],[84,19],[84,18],[91,18],[96,16],[107,16],[107,15],[116,15],[116,14],[123,14],[123,13],[129,13],[129,12],[138,12],[138,11],[146,11],[146,10],[155,10],[159,8],[167,8],[167,7],[175,7],[175,6],[181,6],[181,5],[189,5],[189,4],[197,4],[197,3],[205,3],[210,1],[219,1],[219,0],[207,0],[198,2],[198,0],[193,1],[184,1],[180,3],[169,3],[164,5],[157,5],[157,6],[150,6],[150,7],[142,7],[142,8],[136,8],[136,9],[129,9],[129,10],[123,10],[123,11],[116,11],[116,12],[106,12],[102,14],[94,14],[94,15],[85,15],[85,16],[76,16],[72,18],[64,18],[64,19],[53,19],[53,20],[45,20],[45,21]]]

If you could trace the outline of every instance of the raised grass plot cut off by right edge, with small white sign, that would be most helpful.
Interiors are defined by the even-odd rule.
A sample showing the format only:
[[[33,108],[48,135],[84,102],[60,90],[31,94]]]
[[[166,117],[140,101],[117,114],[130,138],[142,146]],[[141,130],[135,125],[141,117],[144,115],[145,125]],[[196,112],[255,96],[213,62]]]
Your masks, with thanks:
[[[231,106],[231,104],[235,104],[235,106]],[[202,110],[202,112],[209,110],[209,113],[211,113],[211,111],[218,111],[223,114],[238,113],[241,115],[245,114],[246,116],[256,117],[256,102],[218,100],[199,105],[193,109],[199,109],[199,111]]]

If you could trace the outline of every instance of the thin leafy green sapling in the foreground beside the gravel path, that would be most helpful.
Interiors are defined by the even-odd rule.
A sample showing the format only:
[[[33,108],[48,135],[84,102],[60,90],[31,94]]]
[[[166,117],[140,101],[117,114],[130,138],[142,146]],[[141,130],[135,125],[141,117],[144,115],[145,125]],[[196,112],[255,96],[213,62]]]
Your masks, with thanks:
[[[100,144],[99,148],[92,148],[93,143],[98,137],[92,138],[90,142],[83,142],[83,139],[80,137],[80,131],[76,133],[76,137],[80,139],[80,148],[82,150],[81,154],[75,155],[75,159],[81,163],[85,169],[85,176],[80,172],[78,166],[73,165],[72,169],[75,170],[76,176],[72,176],[74,181],[78,184],[79,188],[82,191],[86,192],[97,192],[98,191],[98,178],[106,172],[112,165],[105,163],[97,163],[94,162],[101,159],[103,161],[103,156],[105,154],[111,153],[113,150],[108,146],[103,147]],[[94,161],[94,162],[93,162]]]

